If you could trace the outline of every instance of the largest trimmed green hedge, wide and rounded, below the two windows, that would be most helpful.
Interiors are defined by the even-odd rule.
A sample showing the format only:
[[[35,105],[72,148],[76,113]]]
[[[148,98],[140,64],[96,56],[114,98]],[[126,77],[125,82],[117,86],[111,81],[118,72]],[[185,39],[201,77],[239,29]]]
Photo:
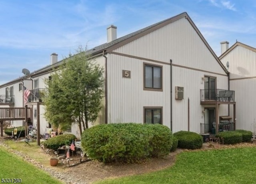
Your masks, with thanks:
[[[83,132],[82,150],[102,162],[136,162],[170,152],[172,132],[163,125],[111,123]]]

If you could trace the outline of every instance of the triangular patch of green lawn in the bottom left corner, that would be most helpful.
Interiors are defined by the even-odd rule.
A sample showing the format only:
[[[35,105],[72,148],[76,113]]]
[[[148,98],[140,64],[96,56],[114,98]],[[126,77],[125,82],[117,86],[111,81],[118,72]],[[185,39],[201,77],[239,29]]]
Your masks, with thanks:
[[[21,178],[23,184],[62,184],[2,146],[0,146],[0,161],[0,179]]]

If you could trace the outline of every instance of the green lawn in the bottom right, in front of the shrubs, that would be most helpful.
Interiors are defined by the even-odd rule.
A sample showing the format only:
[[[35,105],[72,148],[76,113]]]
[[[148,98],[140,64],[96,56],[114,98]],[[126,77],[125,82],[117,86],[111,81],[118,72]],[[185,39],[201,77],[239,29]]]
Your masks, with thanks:
[[[256,148],[182,152],[174,166],[96,184],[255,184]]]

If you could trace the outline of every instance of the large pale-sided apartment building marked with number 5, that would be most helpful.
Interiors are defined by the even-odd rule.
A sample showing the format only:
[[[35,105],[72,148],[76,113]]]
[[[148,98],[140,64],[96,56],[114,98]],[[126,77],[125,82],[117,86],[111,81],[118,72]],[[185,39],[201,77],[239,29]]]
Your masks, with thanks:
[[[160,123],[173,132],[223,130],[220,117],[228,117],[228,104],[235,107],[234,91],[228,90],[228,71],[186,12],[118,39],[115,26],[107,34],[106,44],[88,50],[105,71],[103,108],[93,125],[134,122]],[[38,89],[40,94],[44,78],[62,62],[56,57],[53,54],[51,65],[26,76],[28,89]],[[15,107],[22,105],[20,81],[0,86],[2,94],[7,94],[6,87],[16,86]],[[35,105],[33,109],[37,110]],[[41,105],[41,134],[50,123],[43,114]],[[80,137],[76,126],[71,133]]]

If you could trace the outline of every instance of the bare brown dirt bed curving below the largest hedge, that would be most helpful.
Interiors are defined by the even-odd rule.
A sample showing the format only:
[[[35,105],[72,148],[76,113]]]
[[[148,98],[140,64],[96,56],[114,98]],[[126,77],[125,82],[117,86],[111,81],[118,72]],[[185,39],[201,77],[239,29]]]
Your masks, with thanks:
[[[144,174],[171,166],[175,162],[176,154],[181,151],[181,149],[177,149],[176,152],[172,152],[164,158],[150,158],[142,163],[133,164],[103,164],[98,161],[88,161],[70,167],[66,171],[88,183],[104,178]]]

